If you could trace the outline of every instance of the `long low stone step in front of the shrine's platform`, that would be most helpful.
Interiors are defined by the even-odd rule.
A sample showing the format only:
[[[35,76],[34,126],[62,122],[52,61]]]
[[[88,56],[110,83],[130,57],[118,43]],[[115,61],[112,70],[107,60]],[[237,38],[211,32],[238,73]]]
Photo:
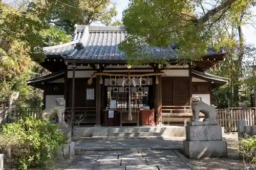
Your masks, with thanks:
[[[93,133],[92,137],[157,137],[160,132],[130,132],[130,133]]]

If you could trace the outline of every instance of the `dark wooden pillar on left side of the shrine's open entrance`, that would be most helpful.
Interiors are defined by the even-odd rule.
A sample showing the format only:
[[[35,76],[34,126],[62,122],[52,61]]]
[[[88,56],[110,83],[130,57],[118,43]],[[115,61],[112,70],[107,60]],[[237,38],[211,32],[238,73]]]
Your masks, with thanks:
[[[101,96],[101,84],[100,84],[100,76],[96,76],[96,125],[100,125],[100,112],[101,112],[101,105],[100,105],[100,96]]]

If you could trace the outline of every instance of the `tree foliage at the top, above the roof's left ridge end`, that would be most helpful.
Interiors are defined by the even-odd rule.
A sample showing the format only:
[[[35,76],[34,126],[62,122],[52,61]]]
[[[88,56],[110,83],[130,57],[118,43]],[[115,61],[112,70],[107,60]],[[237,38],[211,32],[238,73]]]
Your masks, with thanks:
[[[100,22],[108,26],[117,15],[116,5],[111,0],[34,0],[29,8],[68,34],[73,31],[75,24],[90,25],[92,22]]]

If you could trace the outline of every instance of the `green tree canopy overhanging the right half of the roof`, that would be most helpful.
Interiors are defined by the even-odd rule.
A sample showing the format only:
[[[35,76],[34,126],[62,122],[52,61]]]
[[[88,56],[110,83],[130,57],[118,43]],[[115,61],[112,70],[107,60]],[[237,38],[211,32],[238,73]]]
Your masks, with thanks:
[[[215,4],[209,7],[210,3]],[[130,1],[129,8],[123,12],[123,25],[130,34],[120,48],[127,53],[129,63],[137,64],[140,62],[137,59],[138,55],[150,58],[143,52],[146,44],[167,47],[171,42],[175,42],[178,44],[180,55],[196,60],[205,54],[209,44],[218,48],[229,43],[225,37],[222,37],[223,41],[212,41],[216,36],[215,26],[219,25],[219,20],[229,15],[230,21],[238,23],[243,13],[249,14],[250,8],[254,5],[253,0],[198,0],[193,3],[133,0]],[[202,13],[196,12],[199,8]],[[210,10],[207,10],[209,8]]]

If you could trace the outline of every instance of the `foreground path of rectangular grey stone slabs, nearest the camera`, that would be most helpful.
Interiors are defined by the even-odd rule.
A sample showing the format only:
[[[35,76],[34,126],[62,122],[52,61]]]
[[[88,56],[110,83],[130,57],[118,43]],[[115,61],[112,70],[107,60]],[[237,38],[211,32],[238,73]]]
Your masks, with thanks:
[[[189,170],[175,150],[87,151],[69,169],[83,170]]]

